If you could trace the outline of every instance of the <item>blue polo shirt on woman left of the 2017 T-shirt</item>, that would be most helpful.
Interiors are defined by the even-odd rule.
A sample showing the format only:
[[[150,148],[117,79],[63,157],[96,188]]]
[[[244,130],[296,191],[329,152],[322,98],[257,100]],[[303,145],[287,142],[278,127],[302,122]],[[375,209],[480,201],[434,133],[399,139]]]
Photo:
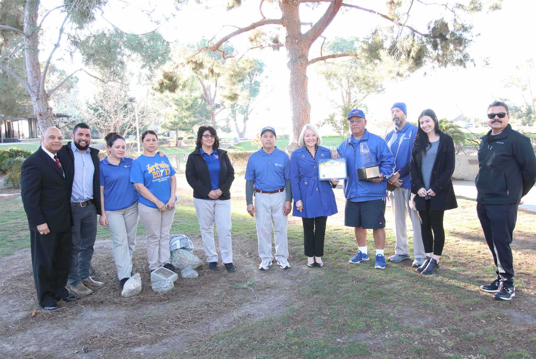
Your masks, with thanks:
[[[106,157],[99,163],[99,181],[104,187],[105,211],[118,211],[128,208],[138,201],[138,191],[130,182],[131,158],[121,158],[119,164],[113,164]]]

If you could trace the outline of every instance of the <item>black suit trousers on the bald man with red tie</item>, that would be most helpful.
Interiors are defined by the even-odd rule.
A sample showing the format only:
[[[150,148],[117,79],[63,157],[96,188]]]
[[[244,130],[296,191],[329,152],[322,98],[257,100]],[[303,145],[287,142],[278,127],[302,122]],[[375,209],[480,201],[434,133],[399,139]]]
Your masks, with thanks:
[[[55,304],[69,295],[65,289],[72,249],[71,230],[47,235],[30,230],[32,268],[39,305]]]

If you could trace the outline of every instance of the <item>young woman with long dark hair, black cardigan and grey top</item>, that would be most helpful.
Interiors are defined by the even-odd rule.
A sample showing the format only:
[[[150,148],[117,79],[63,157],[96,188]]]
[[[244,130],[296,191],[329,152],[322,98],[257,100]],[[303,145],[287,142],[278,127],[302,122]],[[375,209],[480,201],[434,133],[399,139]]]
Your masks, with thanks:
[[[458,207],[451,177],[455,152],[452,137],[440,131],[437,116],[431,109],[419,115],[410,161],[411,192],[415,210],[421,219],[422,242],[426,260],[418,273],[434,274],[445,244],[443,214]],[[432,231],[434,235],[432,235]]]

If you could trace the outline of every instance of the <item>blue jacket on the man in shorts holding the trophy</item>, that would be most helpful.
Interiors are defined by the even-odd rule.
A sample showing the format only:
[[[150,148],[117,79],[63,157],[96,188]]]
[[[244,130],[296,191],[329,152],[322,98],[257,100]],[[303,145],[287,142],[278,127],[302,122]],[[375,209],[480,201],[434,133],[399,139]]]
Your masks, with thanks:
[[[355,142],[354,142],[355,141]],[[382,182],[359,181],[358,169],[361,166],[361,142],[366,141],[370,154],[384,175]],[[387,197],[387,180],[394,173],[394,156],[385,140],[365,130],[359,140],[348,137],[337,147],[337,152],[346,159],[348,179],[344,180],[344,196],[353,202],[364,202]]]

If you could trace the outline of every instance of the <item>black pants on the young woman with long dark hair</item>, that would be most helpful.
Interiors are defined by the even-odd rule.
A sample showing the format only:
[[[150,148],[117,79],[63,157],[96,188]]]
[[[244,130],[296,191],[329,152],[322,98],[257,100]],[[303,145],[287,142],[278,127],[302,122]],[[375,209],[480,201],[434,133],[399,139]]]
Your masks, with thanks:
[[[445,211],[430,211],[430,200],[426,200],[426,211],[419,211],[421,217],[422,244],[426,253],[441,256],[445,246],[445,230],[443,229],[443,214]],[[434,235],[432,236],[432,231]]]

